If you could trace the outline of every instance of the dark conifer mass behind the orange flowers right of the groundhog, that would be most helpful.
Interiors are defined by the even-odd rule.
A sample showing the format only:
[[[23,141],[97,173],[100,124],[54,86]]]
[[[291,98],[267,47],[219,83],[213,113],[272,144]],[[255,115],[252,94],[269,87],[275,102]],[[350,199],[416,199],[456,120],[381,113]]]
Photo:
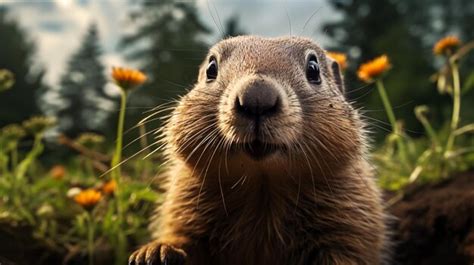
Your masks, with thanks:
[[[474,31],[474,5],[469,0],[419,0],[419,1],[378,1],[378,0],[330,0],[330,5],[342,14],[340,20],[328,22],[322,27],[334,45],[330,49],[347,52],[350,55],[350,69],[346,72],[347,84],[353,88],[357,83],[357,66],[375,56],[387,53],[393,68],[386,78],[388,93],[397,108],[397,116],[404,120],[406,128],[422,131],[413,115],[416,105],[432,106],[430,113],[436,125],[449,119],[450,100],[436,92],[434,83],[429,81],[439,62],[432,53],[433,44],[447,34],[458,35],[464,41],[472,41]],[[474,56],[463,59],[472,65]],[[469,68],[469,67],[466,67]],[[472,70],[462,73],[472,76]],[[466,89],[467,90],[467,89]],[[358,98],[367,109],[380,109],[377,93],[366,94],[360,89],[350,93]],[[466,102],[474,98],[473,93],[464,95]],[[411,104],[410,104],[411,103]],[[469,110],[470,111],[470,110]],[[384,113],[372,113],[384,119]],[[472,116],[472,115],[471,115]],[[469,114],[464,115],[469,120]],[[375,127],[384,127],[377,123]],[[383,130],[382,130],[383,131]],[[381,131],[381,132],[382,132]]]

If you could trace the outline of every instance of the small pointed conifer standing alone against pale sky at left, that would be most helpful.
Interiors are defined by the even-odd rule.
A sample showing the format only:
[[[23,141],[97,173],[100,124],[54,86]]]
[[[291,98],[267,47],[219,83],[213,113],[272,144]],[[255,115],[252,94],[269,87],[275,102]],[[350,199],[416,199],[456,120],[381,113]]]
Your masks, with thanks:
[[[106,78],[101,54],[97,27],[92,24],[60,82],[59,97],[63,104],[56,109],[56,115],[59,130],[66,135],[105,129],[104,121],[110,111],[102,106],[110,105],[111,99],[104,92]]]

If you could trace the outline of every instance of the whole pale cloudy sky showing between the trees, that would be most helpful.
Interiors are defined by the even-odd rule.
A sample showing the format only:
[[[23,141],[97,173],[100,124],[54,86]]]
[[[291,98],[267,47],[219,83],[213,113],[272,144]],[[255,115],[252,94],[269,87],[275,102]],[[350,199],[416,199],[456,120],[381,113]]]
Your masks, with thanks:
[[[95,22],[103,48],[103,62],[133,66],[117,47],[120,38],[133,31],[129,14],[137,9],[134,0],[0,0],[13,19],[37,43],[39,64],[47,69],[46,83],[57,86],[68,58],[74,53],[88,26]],[[321,44],[328,39],[323,22],[338,19],[326,0],[197,0],[201,20],[213,31],[209,43],[219,40],[220,25],[233,15],[247,33],[263,36],[300,35]]]

